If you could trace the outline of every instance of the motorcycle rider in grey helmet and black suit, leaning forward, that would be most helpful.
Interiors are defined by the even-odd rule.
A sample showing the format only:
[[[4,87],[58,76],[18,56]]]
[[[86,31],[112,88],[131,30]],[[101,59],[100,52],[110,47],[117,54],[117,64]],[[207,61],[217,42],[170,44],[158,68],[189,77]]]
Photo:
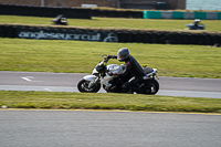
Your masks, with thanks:
[[[108,72],[110,76],[125,76],[127,74],[130,74],[133,76],[130,80],[122,85],[123,93],[134,93],[139,91],[139,86],[137,84],[143,81],[144,71],[140,64],[135,60],[135,57],[129,54],[129,50],[127,48],[122,48],[118,50],[117,55],[108,55],[107,57],[117,59],[119,62],[125,62],[126,65],[125,70],[120,73]]]

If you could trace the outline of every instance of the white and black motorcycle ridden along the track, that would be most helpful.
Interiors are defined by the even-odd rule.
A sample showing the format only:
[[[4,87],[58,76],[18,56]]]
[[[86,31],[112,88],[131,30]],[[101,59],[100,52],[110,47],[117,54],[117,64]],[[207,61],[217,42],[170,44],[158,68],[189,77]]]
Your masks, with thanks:
[[[82,93],[97,93],[101,87],[107,93],[122,93],[122,85],[128,81],[131,75],[118,76],[118,75],[109,75],[110,73],[119,73],[125,69],[125,65],[109,64],[107,62],[109,59],[107,55],[103,55],[104,60],[99,62],[92,72],[92,75],[85,75],[78,83],[77,88]],[[150,69],[143,66],[143,71],[145,73],[143,81],[137,85],[135,93],[137,94],[150,94],[154,95],[159,91],[159,83],[156,78],[157,69]]]

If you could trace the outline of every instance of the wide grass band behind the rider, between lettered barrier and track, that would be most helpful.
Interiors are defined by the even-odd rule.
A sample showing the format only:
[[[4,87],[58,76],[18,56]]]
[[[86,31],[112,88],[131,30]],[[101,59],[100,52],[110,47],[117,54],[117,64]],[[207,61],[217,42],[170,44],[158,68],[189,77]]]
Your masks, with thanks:
[[[160,76],[221,78],[219,48],[63,40],[0,39],[0,71],[91,73],[102,54],[124,46]]]

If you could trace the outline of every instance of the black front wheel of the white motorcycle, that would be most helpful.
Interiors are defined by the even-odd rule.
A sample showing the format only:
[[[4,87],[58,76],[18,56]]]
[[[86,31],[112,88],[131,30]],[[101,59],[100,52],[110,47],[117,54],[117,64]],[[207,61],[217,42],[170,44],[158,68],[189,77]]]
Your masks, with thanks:
[[[101,88],[101,84],[96,84],[93,87],[88,88],[90,81],[81,80],[77,84],[77,90],[81,93],[97,93]]]

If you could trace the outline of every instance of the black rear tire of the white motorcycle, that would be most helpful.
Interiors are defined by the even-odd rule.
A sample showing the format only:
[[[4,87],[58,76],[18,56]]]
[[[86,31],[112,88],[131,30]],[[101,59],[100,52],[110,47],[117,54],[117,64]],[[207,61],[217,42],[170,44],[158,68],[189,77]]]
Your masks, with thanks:
[[[146,80],[141,86],[143,94],[155,95],[159,91],[159,83],[157,80]]]

